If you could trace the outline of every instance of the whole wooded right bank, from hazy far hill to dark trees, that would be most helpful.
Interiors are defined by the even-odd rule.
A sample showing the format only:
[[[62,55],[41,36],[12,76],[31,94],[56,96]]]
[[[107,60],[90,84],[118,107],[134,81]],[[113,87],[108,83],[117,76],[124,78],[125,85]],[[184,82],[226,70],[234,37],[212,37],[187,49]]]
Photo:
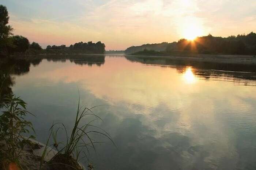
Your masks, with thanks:
[[[159,53],[160,52],[160,53]],[[159,53],[159,54],[158,54]],[[229,37],[208,36],[197,37],[195,40],[180,39],[173,43],[143,44],[132,46],[125,54],[136,55],[170,55],[170,54],[239,54],[256,55],[256,33]]]

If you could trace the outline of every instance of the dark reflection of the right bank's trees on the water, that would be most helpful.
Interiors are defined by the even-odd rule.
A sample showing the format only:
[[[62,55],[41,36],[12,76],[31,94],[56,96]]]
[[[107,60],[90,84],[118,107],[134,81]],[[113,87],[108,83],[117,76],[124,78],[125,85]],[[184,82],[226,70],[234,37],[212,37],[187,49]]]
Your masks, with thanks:
[[[183,73],[188,67],[193,67],[194,75],[206,80],[221,80],[228,78],[231,81],[240,82],[244,80],[256,80],[256,65],[249,63],[222,63],[203,60],[181,59],[181,58],[161,58],[161,57],[140,57],[125,56],[131,62],[139,62],[150,65],[170,66],[176,68],[179,73]],[[245,85],[247,83],[245,82]]]

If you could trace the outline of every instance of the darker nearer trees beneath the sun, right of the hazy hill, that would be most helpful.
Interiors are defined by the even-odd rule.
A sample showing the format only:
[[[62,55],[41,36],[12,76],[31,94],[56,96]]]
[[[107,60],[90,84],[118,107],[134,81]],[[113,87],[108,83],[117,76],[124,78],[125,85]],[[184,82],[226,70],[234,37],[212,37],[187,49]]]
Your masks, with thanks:
[[[181,39],[176,48],[167,47],[166,52],[187,51],[199,54],[256,54],[256,33],[229,37],[212,35],[197,37],[195,40]]]

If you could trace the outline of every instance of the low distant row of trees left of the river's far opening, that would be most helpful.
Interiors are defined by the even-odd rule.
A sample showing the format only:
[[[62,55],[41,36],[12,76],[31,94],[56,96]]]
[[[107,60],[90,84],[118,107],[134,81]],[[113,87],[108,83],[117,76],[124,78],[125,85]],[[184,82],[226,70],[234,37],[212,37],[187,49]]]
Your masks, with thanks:
[[[98,41],[97,43],[93,43],[92,41],[89,41],[88,43],[83,43],[81,41],[79,43],[75,43],[74,45],[71,44],[69,47],[67,47],[66,45],[47,46],[46,50],[80,50],[80,51],[85,51],[89,53],[102,54],[105,52],[105,44],[101,43],[101,41]]]

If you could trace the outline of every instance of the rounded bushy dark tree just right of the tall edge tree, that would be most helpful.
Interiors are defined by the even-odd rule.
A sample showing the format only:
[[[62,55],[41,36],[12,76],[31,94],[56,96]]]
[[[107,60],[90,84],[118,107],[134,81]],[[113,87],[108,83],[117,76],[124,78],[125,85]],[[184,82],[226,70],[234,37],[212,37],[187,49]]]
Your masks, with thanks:
[[[15,35],[11,36],[11,40],[13,46],[9,47],[8,49],[11,53],[25,52],[27,49],[29,49],[29,40],[26,37],[23,37],[21,35]]]

